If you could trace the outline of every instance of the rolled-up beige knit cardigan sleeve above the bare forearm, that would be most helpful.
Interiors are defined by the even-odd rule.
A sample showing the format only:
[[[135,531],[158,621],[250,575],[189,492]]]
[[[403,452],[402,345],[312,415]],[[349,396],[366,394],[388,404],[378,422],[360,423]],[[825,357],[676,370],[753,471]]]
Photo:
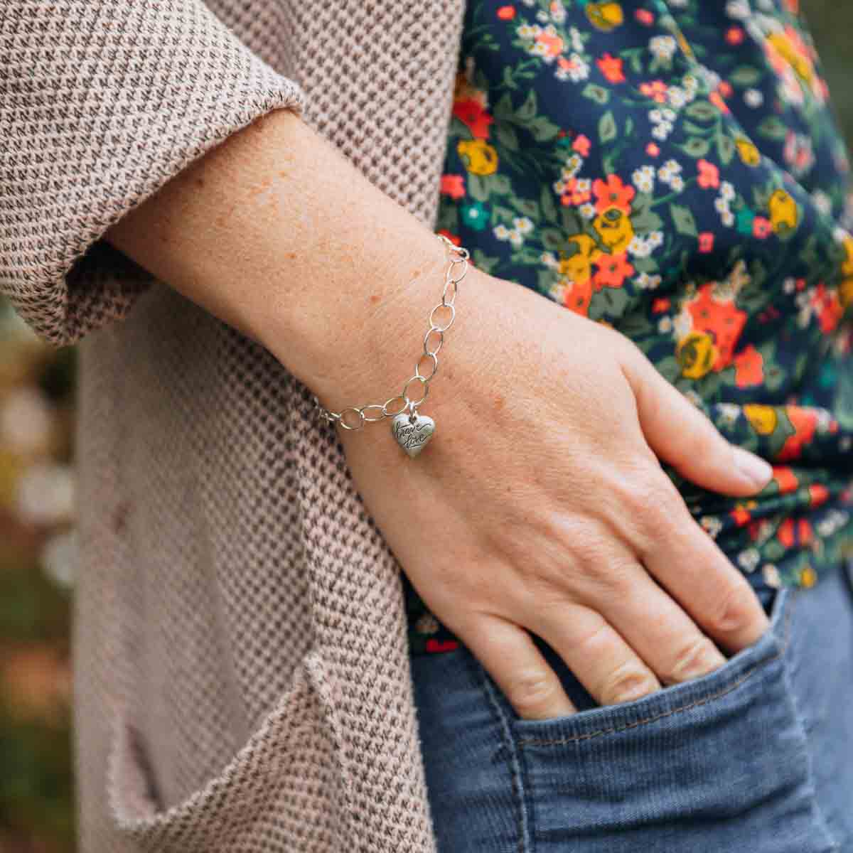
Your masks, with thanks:
[[[102,240],[171,177],[305,92],[200,0],[0,3],[0,293],[52,345],[153,277]]]

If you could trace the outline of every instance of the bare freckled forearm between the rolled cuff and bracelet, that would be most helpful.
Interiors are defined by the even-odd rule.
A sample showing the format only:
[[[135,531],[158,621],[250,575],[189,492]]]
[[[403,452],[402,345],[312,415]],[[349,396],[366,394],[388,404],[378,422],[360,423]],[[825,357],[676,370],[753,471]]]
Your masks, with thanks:
[[[331,408],[399,391],[446,257],[426,226],[289,110],[230,136],[106,239],[270,349]]]

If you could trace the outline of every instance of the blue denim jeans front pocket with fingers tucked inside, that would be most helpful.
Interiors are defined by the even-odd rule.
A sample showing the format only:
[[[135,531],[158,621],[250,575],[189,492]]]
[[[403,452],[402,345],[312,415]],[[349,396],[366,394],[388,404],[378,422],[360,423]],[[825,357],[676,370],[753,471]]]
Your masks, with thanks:
[[[797,595],[780,589],[769,629],[719,669],[632,702],[527,720],[491,682],[519,760],[525,850],[835,850],[786,671]],[[566,664],[559,675],[573,680]]]

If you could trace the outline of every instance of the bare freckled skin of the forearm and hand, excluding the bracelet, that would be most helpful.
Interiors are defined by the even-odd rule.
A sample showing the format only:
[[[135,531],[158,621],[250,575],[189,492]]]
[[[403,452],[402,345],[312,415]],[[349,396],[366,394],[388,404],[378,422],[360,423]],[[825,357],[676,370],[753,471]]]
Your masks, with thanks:
[[[287,110],[229,136],[106,236],[335,411],[401,392],[447,264],[421,220]],[[497,684],[556,678],[525,628],[565,650],[604,704],[614,664],[655,689],[727,601],[744,619],[714,639],[730,652],[755,641],[760,602],[659,465],[723,494],[758,490],[705,415],[624,336],[473,264],[456,310],[419,406],[436,427],[421,456],[387,423],[337,434],[415,589]],[[606,642],[577,657],[566,632],[601,624]],[[553,686],[525,716],[573,710]]]

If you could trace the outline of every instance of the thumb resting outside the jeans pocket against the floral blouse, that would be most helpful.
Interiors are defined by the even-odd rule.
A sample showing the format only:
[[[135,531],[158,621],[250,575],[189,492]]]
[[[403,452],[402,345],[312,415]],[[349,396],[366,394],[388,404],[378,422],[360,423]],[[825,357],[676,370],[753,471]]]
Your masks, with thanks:
[[[664,379],[637,350],[622,363],[649,447],[682,477],[735,497],[754,495],[773,478],[760,456],[722,437],[704,412]]]

